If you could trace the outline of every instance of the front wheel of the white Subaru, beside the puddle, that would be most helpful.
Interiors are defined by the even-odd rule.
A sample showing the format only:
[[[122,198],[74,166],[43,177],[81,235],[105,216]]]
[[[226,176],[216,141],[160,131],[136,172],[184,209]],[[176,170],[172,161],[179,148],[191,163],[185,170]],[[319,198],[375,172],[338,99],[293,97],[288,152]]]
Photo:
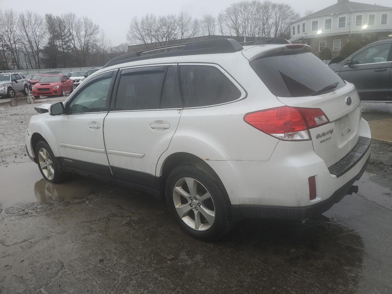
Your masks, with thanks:
[[[49,145],[40,141],[35,146],[35,156],[38,163],[38,169],[45,180],[52,183],[62,183],[68,179],[68,174],[60,172],[60,167],[57,164],[56,158]]]

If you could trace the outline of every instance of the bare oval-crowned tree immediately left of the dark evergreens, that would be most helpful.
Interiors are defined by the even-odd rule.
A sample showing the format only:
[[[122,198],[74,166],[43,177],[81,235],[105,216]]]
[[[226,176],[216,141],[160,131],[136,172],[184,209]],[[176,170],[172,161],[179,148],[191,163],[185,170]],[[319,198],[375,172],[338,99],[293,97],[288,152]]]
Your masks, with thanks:
[[[46,37],[46,24],[44,18],[38,13],[25,11],[19,15],[20,40],[34,56],[37,68],[40,68],[40,49]]]

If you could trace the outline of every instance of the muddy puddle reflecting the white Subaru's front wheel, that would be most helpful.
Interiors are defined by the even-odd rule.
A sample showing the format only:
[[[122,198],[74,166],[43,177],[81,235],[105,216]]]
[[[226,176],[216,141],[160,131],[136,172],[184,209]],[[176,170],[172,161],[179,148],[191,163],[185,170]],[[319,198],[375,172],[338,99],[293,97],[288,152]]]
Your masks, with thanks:
[[[42,178],[35,163],[11,164],[0,167],[2,209],[20,203],[72,201],[102,187],[100,181],[75,176],[70,181],[53,184]]]

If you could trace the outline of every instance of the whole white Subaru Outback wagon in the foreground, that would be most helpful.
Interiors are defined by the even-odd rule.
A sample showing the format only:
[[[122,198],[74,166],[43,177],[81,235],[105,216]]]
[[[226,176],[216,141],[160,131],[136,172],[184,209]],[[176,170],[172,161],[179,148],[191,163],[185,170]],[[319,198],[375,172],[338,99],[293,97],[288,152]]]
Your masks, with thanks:
[[[239,217],[308,218],[355,191],[370,129],[354,85],[308,45],[179,46],[114,58],[33,116],[26,147],[44,178],[75,172],[165,197],[184,230],[210,240]]]

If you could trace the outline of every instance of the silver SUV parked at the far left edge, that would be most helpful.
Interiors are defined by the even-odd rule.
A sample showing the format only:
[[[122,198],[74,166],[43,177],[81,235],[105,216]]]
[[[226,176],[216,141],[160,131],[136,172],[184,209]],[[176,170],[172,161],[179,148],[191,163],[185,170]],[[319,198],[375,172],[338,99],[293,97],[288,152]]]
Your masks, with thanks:
[[[22,73],[0,73],[0,97],[14,98],[16,92],[29,94],[29,83]]]

